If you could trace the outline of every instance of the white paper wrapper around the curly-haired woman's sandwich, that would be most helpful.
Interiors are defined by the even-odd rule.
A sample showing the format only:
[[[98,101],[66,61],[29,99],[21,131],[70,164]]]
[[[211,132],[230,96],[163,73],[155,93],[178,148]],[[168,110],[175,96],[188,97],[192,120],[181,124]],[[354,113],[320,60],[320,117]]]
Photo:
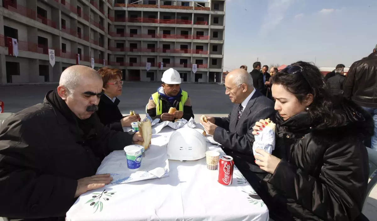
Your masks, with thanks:
[[[275,131],[270,127],[265,127],[262,131],[259,132],[259,135],[254,136],[255,141],[253,143],[253,154],[259,155],[256,153],[256,149],[262,149],[267,153],[271,154],[275,149]]]

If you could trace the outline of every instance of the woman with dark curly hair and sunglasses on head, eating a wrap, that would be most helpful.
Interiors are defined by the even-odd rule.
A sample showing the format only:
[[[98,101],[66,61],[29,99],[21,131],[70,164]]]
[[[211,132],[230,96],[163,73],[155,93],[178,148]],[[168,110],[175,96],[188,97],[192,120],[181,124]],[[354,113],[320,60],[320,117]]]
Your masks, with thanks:
[[[257,192],[271,218],[365,220],[369,163],[363,140],[373,133],[371,116],[352,101],[333,99],[318,68],[307,62],[275,73],[272,95],[275,149],[255,154],[255,163],[268,172]],[[266,125],[257,122],[253,134]]]

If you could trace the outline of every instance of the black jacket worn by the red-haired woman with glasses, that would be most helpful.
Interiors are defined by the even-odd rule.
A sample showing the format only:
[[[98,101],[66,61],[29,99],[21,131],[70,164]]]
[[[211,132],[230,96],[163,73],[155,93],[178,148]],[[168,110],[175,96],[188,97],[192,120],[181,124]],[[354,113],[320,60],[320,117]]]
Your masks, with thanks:
[[[118,98],[115,98],[115,101],[113,102],[105,94],[101,95],[100,102],[98,103],[97,115],[98,118],[100,118],[101,123],[106,127],[109,127],[110,130],[123,132],[120,120],[124,117],[118,108],[119,103],[120,100]]]

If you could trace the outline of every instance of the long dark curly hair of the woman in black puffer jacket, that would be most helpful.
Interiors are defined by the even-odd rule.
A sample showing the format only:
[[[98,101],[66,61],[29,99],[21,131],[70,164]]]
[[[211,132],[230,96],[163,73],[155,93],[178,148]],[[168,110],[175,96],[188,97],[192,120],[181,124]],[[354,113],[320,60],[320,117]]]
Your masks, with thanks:
[[[285,73],[285,70],[276,73],[272,77],[272,84],[282,85],[287,91],[295,95],[300,103],[305,101],[308,94],[313,94],[313,103],[308,112],[319,129],[337,126],[345,123],[345,116],[340,110],[334,110],[333,96],[329,93],[323,81],[323,74],[319,69],[308,62],[298,61],[293,65],[303,68],[303,73]]]

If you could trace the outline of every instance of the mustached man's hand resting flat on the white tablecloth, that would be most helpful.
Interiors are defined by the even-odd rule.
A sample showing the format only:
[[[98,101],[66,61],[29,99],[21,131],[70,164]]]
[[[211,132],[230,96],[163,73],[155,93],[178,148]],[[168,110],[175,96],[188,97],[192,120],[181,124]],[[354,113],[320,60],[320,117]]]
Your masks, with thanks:
[[[98,174],[77,180],[75,198],[89,190],[104,187],[106,184],[109,184],[111,180],[113,180],[113,178],[110,177],[110,174]]]

